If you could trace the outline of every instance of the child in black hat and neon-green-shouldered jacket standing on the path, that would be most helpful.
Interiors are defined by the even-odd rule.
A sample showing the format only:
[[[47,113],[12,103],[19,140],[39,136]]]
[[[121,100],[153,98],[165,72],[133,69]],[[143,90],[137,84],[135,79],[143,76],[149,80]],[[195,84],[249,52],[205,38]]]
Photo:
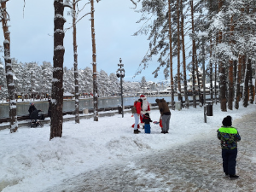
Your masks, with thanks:
[[[236,179],[239,177],[236,175],[237,142],[241,140],[241,137],[237,129],[231,126],[230,116],[223,119],[222,125],[217,131],[217,137],[222,148],[223,171],[226,177]]]

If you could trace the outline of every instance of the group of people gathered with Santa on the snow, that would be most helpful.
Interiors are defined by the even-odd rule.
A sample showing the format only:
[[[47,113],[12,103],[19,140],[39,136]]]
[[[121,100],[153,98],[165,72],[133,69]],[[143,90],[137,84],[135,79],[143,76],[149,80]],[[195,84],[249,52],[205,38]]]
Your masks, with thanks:
[[[161,133],[168,133],[169,127],[170,127],[170,119],[171,119],[171,112],[168,107],[168,104],[165,99],[156,99],[155,102],[158,104],[159,110],[160,110],[160,120],[161,120]],[[132,125],[134,128],[134,134],[138,134],[141,131],[138,130],[140,128],[140,125],[143,125],[143,129],[145,133],[150,133],[150,122],[152,122],[152,119],[150,119],[149,113],[150,113],[150,106],[147,100],[147,97],[144,95],[141,95],[140,98],[134,102],[134,111],[133,116],[135,119],[135,123]],[[140,123],[139,123],[140,120]]]

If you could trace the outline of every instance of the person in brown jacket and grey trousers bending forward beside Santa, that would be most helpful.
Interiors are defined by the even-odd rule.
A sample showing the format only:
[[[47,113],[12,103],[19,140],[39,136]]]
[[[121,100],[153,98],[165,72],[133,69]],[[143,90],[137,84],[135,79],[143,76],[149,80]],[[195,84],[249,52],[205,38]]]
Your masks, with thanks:
[[[162,117],[162,131],[161,133],[168,133],[171,119],[171,112],[165,99],[156,99],[155,102],[158,104],[160,114]]]

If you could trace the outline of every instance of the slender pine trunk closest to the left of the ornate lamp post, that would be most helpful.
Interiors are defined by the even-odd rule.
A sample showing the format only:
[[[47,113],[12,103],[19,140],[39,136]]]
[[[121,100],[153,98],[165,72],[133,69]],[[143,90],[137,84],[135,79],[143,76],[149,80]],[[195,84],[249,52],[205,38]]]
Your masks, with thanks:
[[[98,121],[98,89],[97,89],[97,71],[96,71],[96,43],[94,28],[94,0],[90,0],[91,5],[91,41],[92,41],[92,66],[93,66],[93,107],[94,121]]]

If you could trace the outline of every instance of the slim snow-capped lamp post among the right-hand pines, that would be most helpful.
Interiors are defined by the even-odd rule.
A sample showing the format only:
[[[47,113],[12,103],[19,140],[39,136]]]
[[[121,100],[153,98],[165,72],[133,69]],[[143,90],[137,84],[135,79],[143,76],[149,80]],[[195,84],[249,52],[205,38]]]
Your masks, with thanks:
[[[202,84],[203,84],[203,107],[204,107],[204,120],[205,123],[207,123],[207,107],[206,107],[206,71],[205,71],[205,38],[207,38],[208,33],[207,32],[201,32],[198,34],[198,37],[202,40],[202,68],[203,68],[203,78],[202,78]]]

